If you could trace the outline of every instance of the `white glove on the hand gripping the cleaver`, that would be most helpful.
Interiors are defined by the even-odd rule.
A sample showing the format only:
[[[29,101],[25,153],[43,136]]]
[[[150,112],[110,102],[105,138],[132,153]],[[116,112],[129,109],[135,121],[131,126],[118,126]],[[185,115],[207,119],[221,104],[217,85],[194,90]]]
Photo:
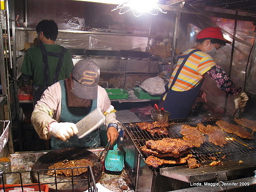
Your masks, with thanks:
[[[78,130],[74,123],[58,123],[54,121],[49,125],[49,133],[62,141],[67,141],[67,139],[77,134]]]

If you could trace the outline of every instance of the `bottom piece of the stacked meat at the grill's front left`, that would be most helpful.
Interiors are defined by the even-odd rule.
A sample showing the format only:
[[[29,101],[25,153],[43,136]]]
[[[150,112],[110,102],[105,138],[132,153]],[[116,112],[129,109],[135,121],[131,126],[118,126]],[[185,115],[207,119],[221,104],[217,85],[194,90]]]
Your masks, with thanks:
[[[171,160],[159,159],[158,157],[155,157],[155,156],[148,156],[145,162],[148,166],[157,168],[163,164],[183,164],[183,163],[186,163],[187,159],[189,158],[193,158],[193,155],[188,154],[185,157],[173,158]]]

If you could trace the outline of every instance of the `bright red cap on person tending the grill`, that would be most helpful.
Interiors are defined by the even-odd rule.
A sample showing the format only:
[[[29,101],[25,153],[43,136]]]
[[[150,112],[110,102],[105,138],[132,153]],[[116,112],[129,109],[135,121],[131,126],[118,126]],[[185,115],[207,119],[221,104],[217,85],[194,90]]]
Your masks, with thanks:
[[[221,28],[219,27],[208,27],[200,31],[197,34],[197,39],[203,38],[216,38],[225,41],[227,44],[231,44],[230,41],[224,39],[223,34],[221,32]]]

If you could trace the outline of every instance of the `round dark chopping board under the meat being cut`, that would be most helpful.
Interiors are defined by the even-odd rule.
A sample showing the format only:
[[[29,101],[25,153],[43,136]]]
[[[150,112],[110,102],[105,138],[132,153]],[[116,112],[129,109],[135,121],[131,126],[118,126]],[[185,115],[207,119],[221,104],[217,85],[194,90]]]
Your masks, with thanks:
[[[35,170],[31,173],[32,181],[34,183],[38,183],[38,180],[40,180],[40,183],[43,184],[54,182],[54,184],[48,184],[49,191],[56,191],[55,177],[47,175],[48,167],[63,160],[76,159],[90,159],[93,162],[94,165],[92,170],[95,182],[97,183],[101,178],[103,165],[101,162],[98,162],[99,157],[96,154],[84,148],[61,148],[50,151],[47,154],[39,157],[32,167],[32,170]],[[74,176],[73,178],[75,192],[85,191],[88,189],[88,172],[79,176]],[[58,192],[73,191],[72,182],[70,182],[72,181],[72,177],[57,175],[56,179]]]

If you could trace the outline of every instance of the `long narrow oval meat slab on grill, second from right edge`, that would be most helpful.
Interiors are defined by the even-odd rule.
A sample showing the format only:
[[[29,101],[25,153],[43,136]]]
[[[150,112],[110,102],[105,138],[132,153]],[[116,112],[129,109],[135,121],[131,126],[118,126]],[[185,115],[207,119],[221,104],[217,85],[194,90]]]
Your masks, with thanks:
[[[223,120],[216,121],[216,124],[220,127],[220,129],[223,129],[227,133],[232,133],[245,139],[253,138],[248,131],[239,125],[231,124]]]

